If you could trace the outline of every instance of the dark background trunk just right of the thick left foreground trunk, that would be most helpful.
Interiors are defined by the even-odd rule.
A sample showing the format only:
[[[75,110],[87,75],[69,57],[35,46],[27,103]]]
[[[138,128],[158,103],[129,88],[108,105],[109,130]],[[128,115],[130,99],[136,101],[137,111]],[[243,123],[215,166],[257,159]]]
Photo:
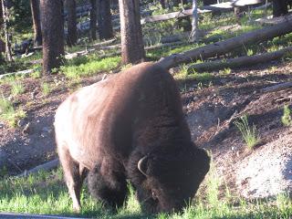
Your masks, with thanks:
[[[77,43],[77,20],[76,20],[76,2],[75,0],[66,0],[65,6],[68,11],[68,47],[72,47]]]

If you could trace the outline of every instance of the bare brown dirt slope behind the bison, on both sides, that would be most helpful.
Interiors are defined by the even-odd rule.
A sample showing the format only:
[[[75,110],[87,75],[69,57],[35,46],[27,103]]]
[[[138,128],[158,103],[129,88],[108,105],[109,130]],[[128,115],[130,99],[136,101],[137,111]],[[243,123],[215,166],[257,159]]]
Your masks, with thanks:
[[[267,65],[233,71],[228,76],[216,74],[209,86],[200,87],[195,80],[179,82],[179,86],[187,88],[182,92],[183,109],[193,141],[212,153],[219,176],[235,193],[245,197],[292,191],[292,129],[281,123],[283,106],[291,107],[292,89],[262,91],[276,83],[292,81],[292,62],[273,64],[275,68]],[[101,77],[84,78],[82,86]],[[0,121],[0,169],[5,165],[10,174],[57,157],[55,110],[77,85],[62,76],[45,80],[54,88],[47,96],[40,89],[43,78],[24,80],[26,92],[14,102],[26,110],[27,117],[17,128]],[[9,96],[9,85],[1,85],[0,89]],[[252,151],[246,149],[233,123],[245,114],[261,137]]]

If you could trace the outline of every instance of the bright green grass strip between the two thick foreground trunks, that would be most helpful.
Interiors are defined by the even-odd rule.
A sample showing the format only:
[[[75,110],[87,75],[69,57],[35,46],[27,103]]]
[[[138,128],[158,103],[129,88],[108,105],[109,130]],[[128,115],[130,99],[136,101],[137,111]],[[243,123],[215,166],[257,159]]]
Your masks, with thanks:
[[[61,67],[61,72],[67,78],[91,76],[101,71],[110,71],[120,66],[120,57],[106,57],[103,59],[89,59],[85,61],[82,57],[80,63],[77,60]]]

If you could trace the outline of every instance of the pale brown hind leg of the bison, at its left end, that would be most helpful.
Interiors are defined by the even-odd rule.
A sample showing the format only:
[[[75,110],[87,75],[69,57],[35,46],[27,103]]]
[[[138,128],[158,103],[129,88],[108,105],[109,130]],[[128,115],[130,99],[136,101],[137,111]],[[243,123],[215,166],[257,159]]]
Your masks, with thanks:
[[[58,156],[63,167],[68,192],[73,201],[73,210],[78,213],[81,210],[80,193],[87,169],[75,162],[67,150],[59,151]]]

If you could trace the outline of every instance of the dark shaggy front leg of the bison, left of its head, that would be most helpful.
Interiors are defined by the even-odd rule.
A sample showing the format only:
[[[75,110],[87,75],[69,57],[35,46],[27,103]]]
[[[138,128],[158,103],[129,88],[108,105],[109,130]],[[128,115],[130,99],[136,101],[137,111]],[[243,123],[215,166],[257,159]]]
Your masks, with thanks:
[[[102,175],[100,165],[89,172],[89,193],[97,200],[116,209],[123,205],[127,197],[127,183],[123,175],[110,173]]]

